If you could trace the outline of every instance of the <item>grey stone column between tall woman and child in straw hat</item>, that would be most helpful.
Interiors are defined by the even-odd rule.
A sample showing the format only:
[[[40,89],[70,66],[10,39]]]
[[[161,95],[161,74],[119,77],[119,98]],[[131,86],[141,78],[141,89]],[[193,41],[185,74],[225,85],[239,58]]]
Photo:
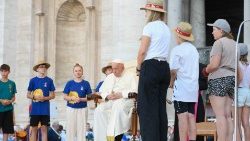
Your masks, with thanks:
[[[182,20],[182,2],[183,0],[168,0],[168,26],[171,30],[171,49],[176,45],[175,35],[172,33],[172,29],[175,28],[178,23]],[[169,52],[169,56],[170,56]]]

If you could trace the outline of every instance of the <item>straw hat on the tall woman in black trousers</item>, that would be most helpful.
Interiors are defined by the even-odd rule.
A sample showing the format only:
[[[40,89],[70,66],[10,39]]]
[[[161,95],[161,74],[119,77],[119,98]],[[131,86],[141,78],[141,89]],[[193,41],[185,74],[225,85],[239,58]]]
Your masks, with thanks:
[[[163,8],[163,1],[162,0],[148,0],[147,4],[144,7],[141,7],[140,9],[166,13],[166,11]]]

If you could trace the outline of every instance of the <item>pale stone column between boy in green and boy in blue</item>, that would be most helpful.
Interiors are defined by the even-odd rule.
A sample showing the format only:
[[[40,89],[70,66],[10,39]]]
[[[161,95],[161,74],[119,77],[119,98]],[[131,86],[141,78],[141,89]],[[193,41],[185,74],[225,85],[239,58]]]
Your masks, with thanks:
[[[28,104],[26,98],[27,86],[32,77],[31,64],[31,37],[32,35],[32,0],[18,0],[17,10],[17,50],[16,50],[16,95],[15,115],[17,124],[26,124],[29,121]],[[20,108],[21,107],[21,108]]]

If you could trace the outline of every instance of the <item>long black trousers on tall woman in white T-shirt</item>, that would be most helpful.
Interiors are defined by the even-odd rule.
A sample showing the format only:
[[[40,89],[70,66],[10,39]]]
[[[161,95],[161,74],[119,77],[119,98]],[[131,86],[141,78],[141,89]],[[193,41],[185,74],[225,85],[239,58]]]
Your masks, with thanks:
[[[166,61],[142,63],[138,88],[138,115],[143,141],[166,141],[168,119],[166,93],[170,69]]]

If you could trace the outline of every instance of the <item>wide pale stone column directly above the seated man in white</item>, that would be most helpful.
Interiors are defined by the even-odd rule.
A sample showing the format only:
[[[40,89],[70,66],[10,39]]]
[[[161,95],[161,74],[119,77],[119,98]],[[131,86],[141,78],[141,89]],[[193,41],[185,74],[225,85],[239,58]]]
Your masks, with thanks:
[[[146,24],[145,11],[140,7],[145,4],[145,0],[113,0],[113,58],[136,59],[139,39]]]

